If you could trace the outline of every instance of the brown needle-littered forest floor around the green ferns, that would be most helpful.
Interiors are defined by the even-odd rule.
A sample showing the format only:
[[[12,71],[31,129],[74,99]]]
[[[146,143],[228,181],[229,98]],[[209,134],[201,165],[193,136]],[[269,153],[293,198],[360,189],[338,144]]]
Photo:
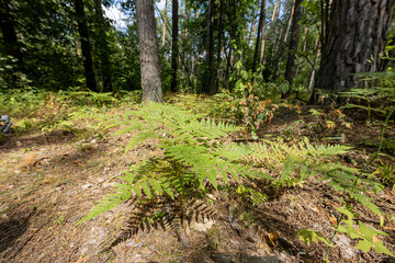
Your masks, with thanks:
[[[280,111],[259,130],[260,139],[280,136],[292,144],[306,136],[349,145],[354,148],[339,158],[358,168],[376,150],[381,126],[345,116],[343,127],[325,119],[331,112],[317,117],[311,110]],[[158,199],[131,201],[76,226],[128,165],[160,155],[149,141],[125,153],[133,133],[98,136],[79,122],[74,132],[16,129],[0,139],[0,262],[321,262],[326,245],[308,247],[296,232],[307,228],[330,238],[341,196],[316,181],[283,188],[256,206],[235,192],[213,192],[208,201],[189,206],[194,220],[184,230],[171,219],[156,224],[156,211],[172,209]],[[393,123],[386,130],[386,138],[395,138]],[[385,153],[394,156],[394,148],[387,146]],[[386,187],[375,198],[385,215],[383,227],[366,208],[357,210],[362,221],[388,233],[383,241],[395,253],[395,191]],[[395,262],[354,249],[356,241],[343,235],[334,242],[331,262]]]

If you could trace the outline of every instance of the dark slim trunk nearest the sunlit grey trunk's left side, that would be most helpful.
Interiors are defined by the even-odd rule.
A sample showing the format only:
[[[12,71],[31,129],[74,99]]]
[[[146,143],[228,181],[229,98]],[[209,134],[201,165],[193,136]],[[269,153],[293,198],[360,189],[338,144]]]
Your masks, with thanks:
[[[103,75],[103,92],[111,92],[112,82],[111,82],[111,64],[110,64],[110,50],[106,41],[106,33],[105,33],[105,21],[103,16],[103,9],[101,0],[94,0],[95,5],[95,14],[97,14],[97,23],[100,27],[100,36],[99,36],[99,49],[101,56],[101,67],[102,67],[102,75]]]

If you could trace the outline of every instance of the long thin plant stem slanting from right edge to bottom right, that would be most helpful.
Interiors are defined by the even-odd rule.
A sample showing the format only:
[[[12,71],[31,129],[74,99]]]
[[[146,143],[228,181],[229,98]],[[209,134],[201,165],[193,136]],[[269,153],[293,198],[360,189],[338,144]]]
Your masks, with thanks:
[[[351,188],[350,193],[353,193],[353,192],[354,192],[354,190],[356,190],[356,187],[357,187],[357,185],[358,185],[358,183],[359,183],[362,174],[363,174],[363,173],[366,171],[366,169],[373,163],[373,161],[379,157],[379,155],[380,155],[380,152],[381,152],[381,150],[382,150],[382,148],[383,148],[385,129],[386,129],[386,127],[387,127],[387,125],[388,125],[388,122],[390,122],[390,118],[391,118],[391,116],[393,115],[394,112],[395,112],[395,104],[394,104],[394,106],[392,107],[392,110],[391,110],[391,112],[388,113],[388,115],[386,116],[385,122],[384,122],[384,124],[383,124],[383,128],[382,128],[382,132],[381,132],[381,135],[380,135],[380,144],[379,144],[379,149],[377,149],[377,151],[375,152],[374,157],[362,168],[361,172],[358,174],[358,176],[357,176],[357,179],[356,179],[356,181],[354,181],[354,183],[353,183],[353,185],[352,185],[352,188]],[[350,203],[351,203],[351,196],[348,197],[348,199],[347,199],[347,202],[346,202],[346,207],[349,206]],[[336,237],[336,235],[338,233],[338,229],[339,229],[340,224],[342,222],[343,218],[345,218],[345,214],[341,214],[341,216],[340,216],[340,218],[339,218],[339,220],[338,220],[338,224],[337,224],[336,227],[335,227],[335,230],[336,230],[336,231],[335,231],[334,235],[331,236],[331,238],[330,238],[330,240],[329,240],[329,243],[332,243],[332,242],[334,242],[335,237]],[[327,250],[326,250],[326,252],[325,252],[325,256],[324,256],[324,261],[325,261],[325,262],[328,261],[328,255],[329,255],[330,248],[331,248],[331,247],[328,245],[328,248],[327,248]]]

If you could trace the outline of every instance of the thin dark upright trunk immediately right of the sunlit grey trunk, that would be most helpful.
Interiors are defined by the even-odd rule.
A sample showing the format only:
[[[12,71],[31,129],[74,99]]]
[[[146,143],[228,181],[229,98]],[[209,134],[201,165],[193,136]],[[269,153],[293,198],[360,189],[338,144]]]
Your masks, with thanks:
[[[178,35],[179,35],[179,28],[178,28],[178,22],[179,22],[179,15],[178,15],[178,0],[172,0],[172,27],[171,27],[171,34],[172,34],[172,44],[171,44],[171,91],[177,92],[178,91],[178,83],[177,83],[177,76],[178,76]]]

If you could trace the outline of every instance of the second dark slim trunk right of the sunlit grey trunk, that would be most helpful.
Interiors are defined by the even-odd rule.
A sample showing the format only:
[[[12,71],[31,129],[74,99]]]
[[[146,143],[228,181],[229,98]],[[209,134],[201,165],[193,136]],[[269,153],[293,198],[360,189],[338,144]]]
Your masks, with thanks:
[[[206,93],[210,95],[215,94],[213,70],[214,70],[214,0],[208,0],[208,25],[207,25],[207,87],[205,87]]]

